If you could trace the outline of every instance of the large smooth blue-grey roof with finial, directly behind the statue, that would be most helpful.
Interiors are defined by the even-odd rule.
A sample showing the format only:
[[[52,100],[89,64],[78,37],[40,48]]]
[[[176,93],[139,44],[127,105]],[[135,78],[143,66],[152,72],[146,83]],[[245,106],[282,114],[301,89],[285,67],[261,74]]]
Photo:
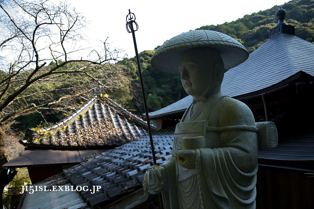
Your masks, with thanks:
[[[275,84],[290,80],[299,71],[314,76],[314,44],[294,35],[279,34],[267,40],[249,58],[225,73],[221,92],[241,98],[277,88]],[[284,85],[284,83],[282,83]],[[152,118],[183,111],[192,103],[187,96],[167,107],[150,112]]]

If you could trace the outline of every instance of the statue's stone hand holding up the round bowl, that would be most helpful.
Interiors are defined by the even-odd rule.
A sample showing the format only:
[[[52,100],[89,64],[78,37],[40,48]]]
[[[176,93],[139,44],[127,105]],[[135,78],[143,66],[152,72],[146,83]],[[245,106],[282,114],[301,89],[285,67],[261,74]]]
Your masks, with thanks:
[[[178,156],[178,163],[187,169],[195,169],[195,149],[183,149],[177,150],[176,155]]]

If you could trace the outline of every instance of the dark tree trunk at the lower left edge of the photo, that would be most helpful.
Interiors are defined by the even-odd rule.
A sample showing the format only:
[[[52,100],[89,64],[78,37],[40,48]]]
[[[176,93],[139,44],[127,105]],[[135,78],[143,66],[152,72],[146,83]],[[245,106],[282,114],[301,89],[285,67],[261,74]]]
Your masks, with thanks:
[[[0,194],[1,194],[0,209],[3,209],[2,196],[3,196],[4,187],[8,185],[10,181],[13,180],[14,176],[17,173],[15,168],[11,168],[9,170],[7,167],[2,166],[8,162],[4,154],[4,138],[5,138],[4,128],[0,127]]]

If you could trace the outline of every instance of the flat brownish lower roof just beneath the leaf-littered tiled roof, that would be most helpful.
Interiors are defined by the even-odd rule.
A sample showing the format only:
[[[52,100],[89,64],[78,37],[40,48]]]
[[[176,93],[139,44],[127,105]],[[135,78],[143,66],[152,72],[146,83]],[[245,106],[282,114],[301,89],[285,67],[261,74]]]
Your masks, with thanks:
[[[26,167],[32,165],[81,163],[82,159],[101,150],[58,150],[30,149],[25,150],[3,166]]]

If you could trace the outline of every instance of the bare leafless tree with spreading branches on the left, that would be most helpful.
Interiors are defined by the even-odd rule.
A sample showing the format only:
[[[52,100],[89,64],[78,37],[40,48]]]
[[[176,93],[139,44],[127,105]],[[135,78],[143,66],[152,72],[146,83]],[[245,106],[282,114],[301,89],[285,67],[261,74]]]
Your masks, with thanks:
[[[111,91],[129,85],[121,50],[112,50],[107,39],[101,50],[84,47],[86,24],[66,3],[0,0],[0,144],[19,116],[45,109],[68,112],[73,97],[88,98],[96,85]],[[78,53],[83,55],[74,58]],[[3,165],[7,160],[0,149]],[[1,182],[5,173],[1,167]],[[10,181],[12,175],[6,176]]]

